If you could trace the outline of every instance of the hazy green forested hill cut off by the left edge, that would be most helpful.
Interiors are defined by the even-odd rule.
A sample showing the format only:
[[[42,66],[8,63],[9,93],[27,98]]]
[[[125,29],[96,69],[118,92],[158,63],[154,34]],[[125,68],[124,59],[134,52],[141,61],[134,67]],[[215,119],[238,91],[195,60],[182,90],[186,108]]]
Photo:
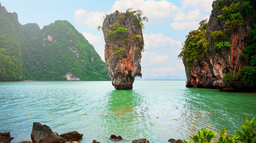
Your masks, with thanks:
[[[0,81],[16,81],[22,76],[22,54],[24,46],[22,25],[17,13],[8,12],[0,4]]]

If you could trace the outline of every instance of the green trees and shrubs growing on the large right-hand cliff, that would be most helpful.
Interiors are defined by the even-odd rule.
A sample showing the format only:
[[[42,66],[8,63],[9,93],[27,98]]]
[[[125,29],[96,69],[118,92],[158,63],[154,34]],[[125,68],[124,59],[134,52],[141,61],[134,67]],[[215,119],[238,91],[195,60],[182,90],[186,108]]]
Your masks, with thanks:
[[[256,85],[256,19],[255,19],[255,8],[256,4],[253,0],[219,0],[216,1],[213,5],[212,16],[220,12],[216,16],[218,22],[223,22],[222,27],[216,31],[206,32],[207,25],[206,20],[200,23],[198,30],[190,31],[186,36],[182,51],[179,58],[183,59],[185,66],[187,66],[187,72],[190,71],[190,68],[194,62],[200,62],[203,59],[203,55],[209,54],[208,48],[211,45],[217,52],[221,54],[221,50],[226,47],[230,48],[231,37],[233,37],[234,32],[239,27],[243,27],[250,31],[252,24],[254,28],[251,32],[248,32],[250,35],[245,37],[247,42],[246,47],[241,54],[241,57],[248,61],[249,65],[244,69],[237,71],[236,73],[226,73],[223,77],[224,81],[232,83],[234,80],[241,80],[245,85],[255,86]],[[214,13],[215,12],[215,13]],[[233,33],[232,33],[233,32]],[[205,39],[206,33],[209,35],[209,39]],[[212,43],[211,43],[212,42]],[[223,51],[225,52],[225,51]],[[232,69],[234,70],[234,69]]]

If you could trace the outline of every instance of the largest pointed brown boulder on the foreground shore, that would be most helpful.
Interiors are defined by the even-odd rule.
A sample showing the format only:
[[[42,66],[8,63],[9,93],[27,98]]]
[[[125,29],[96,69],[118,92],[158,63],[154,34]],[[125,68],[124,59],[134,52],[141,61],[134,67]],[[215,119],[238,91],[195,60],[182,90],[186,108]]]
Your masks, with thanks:
[[[49,126],[33,122],[31,132],[32,143],[65,143],[66,139],[58,136]]]

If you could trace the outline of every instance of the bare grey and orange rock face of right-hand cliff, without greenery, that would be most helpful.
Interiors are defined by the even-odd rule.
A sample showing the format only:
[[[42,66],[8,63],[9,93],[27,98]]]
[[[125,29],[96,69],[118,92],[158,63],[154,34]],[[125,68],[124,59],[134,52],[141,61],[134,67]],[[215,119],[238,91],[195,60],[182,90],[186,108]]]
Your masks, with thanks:
[[[227,31],[231,24],[228,24],[227,19],[218,17],[222,14],[222,8],[224,7],[219,6],[220,2],[223,2],[223,0],[214,1],[212,4],[213,10],[205,34],[205,39],[209,41],[209,47],[203,53],[202,60],[194,61],[191,66],[183,60],[187,77],[186,87],[218,88],[222,91],[232,92],[255,92],[255,87],[247,86],[241,80],[232,82],[223,80],[227,73],[236,76],[241,69],[248,65],[248,60],[241,58],[241,53],[246,46],[246,38],[250,35],[254,23],[253,20],[249,20],[249,16],[242,15],[244,23]],[[238,0],[238,2],[240,1]],[[227,7],[230,5],[231,3],[226,4]],[[222,46],[221,49],[216,49],[214,46],[216,41],[210,36],[214,31],[225,33],[226,41],[231,46]]]

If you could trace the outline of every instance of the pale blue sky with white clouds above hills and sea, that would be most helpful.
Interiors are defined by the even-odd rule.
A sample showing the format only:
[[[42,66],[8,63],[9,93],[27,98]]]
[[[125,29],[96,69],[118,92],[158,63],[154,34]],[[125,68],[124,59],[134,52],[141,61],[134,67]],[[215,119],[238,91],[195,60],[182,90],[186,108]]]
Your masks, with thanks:
[[[178,55],[186,35],[209,19],[213,0],[0,0],[8,12],[18,14],[19,23],[36,23],[40,29],[56,20],[67,20],[94,46],[104,61],[103,16],[128,8],[143,11],[148,18],[142,30],[144,52],[142,80],[175,76],[186,79]]]

